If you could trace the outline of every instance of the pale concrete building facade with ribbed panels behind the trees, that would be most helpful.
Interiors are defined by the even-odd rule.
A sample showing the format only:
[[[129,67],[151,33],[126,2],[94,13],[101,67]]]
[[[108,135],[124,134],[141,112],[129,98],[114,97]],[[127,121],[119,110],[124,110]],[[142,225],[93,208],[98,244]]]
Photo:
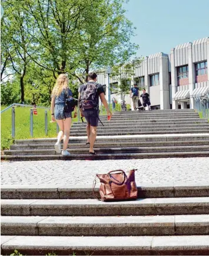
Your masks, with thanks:
[[[146,88],[152,109],[194,108],[195,97],[203,98],[209,93],[208,61],[209,37],[180,44],[170,54],[145,57],[135,69],[130,88],[134,82]],[[104,86],[108,99],[107,74],[98,74],[98,83]],[[111,101],[115,98],[120,102],[123,98],[119,91],[113,93],[118,83],[110,78]],[[129,95],[125,95],[125,101],[131,104]]]

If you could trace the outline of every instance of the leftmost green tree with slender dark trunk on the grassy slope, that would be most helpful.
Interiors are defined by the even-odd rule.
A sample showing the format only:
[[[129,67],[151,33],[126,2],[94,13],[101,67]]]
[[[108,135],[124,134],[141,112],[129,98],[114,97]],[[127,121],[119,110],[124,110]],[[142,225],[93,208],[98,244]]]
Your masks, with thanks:
[[[6,0],[2,2],[5,15],[3,18],[2,35],[9,37],[9,46],[6,47],[4,41],[2,44],[4,52],[9,56],[11,61],[11,69],[18,74],[21,87],[21,101],[25,101],[24,77],[29,63],[28,51],[32,43],[31,35],[28,31],[32,31],[31,20],[24,12],[21,2],[18,0]],[[6,56],[4,61],[6,61]]]

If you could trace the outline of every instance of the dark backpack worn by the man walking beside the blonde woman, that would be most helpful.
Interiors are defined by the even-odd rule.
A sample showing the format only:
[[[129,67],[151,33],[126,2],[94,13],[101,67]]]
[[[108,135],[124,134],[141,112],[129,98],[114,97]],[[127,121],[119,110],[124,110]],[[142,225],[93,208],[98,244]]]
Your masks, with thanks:
[[[81,89],[79,99],[79,107],[84,109],[98,108],[96,101],[97,83],[87,83]]]

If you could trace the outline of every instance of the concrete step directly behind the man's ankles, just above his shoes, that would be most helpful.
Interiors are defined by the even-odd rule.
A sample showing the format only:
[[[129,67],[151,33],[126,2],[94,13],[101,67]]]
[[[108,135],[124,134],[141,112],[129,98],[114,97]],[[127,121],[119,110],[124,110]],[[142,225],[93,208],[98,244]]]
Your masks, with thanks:
[[[115,147],[173,147],[173,146],[195,146],[195,145],[209,145],[209,140],[198,141],[144,141],[144,142],[96,142],[94,148],[115,148]],[[63,147],[63,144],[61,144]],[[69,143],[68,148],[89,148],[89,145],[84,143]],[[14,144],[10,146],[10,150],[44,150],[54,149],[54,144]]]

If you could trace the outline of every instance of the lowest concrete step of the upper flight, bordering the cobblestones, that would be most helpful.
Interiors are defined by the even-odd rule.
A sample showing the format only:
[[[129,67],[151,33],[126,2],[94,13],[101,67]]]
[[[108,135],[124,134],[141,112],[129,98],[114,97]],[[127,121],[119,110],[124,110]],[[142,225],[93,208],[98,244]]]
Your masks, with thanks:
[[[170,158],[170,157],[209,157],[209,151],[200,152],[167,152],[167,153],[124,153],[124,154],[71,154],[63,155],[1,155],[5,161],[39,161],[39,160],[107,160],[107,159],[145,159],[145,158]]]

